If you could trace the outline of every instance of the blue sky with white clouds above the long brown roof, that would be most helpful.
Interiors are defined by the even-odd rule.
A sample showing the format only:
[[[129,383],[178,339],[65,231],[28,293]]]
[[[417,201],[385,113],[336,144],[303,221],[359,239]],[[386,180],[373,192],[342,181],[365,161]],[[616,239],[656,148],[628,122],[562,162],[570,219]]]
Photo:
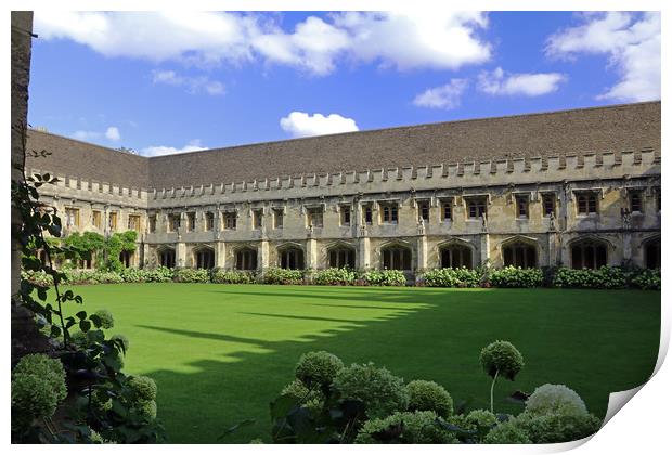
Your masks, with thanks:
[[[36,12],[29,122],[160,155],[660,98],[643,13]]]

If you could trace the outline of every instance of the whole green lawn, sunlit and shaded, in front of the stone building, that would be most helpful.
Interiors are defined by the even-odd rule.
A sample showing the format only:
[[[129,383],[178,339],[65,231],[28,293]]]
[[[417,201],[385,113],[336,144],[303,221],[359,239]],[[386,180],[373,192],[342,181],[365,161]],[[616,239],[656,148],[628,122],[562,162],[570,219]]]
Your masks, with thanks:
[[[171,442],[269,440],[269,402],[302,352],[373,361],[406,380],[443,385],[455,402],[489,403],[480,349],[512,341],[526,366],[505,396],[565,384],[604,416],[608,394],[642,384],[658,355],[660,292],[141,284],[81,286],[90,311],[108,309],[128,336],[126,370],[158,384]]]

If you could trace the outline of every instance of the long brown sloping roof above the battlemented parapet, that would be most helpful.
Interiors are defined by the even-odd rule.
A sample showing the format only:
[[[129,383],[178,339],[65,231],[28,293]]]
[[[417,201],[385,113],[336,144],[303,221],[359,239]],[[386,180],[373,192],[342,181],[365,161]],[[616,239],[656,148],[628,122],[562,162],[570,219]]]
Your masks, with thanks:
[[[86,168],[82,161],[91,153],[87,155],[85,150],[98,152],[104,147],[88,145],[87,148],[83,143],[64,138],[59,138],[59,143],[52,139],[51,144],[55,157],[69,155],[69,152],[55,152],[65,150],[68,141],[75,143],[70,147],[74,159],[60,165],[70,169],[70,173],[86,170],[86,176],[107,176],[106,181],[122,178],[124,182],[144,178],[148,187],[163,188],[507,156],[554,156],[643,147],[660,151],[660,102],[648,102],[302,138],[148,160],[115,151],[124,158],[113,159],[107,154],[104,161],[96,157],[98,162],[88,162]],[[115,164],[118,169],[111,169]],[[70,167],[73,165],[77,166]],[[130,172],[129,166],[137,169]]]

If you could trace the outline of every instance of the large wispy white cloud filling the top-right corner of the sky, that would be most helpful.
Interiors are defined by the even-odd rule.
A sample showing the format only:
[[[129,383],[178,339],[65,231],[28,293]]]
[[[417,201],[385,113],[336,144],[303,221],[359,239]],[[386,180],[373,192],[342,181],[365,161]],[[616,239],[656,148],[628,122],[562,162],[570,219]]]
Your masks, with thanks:
[[[591,13],[583,21],[551,36],[546,54],[564,58],[608,54],[609,66],[617,68],[620,80],[598,99],[660,99],[660,13]]]

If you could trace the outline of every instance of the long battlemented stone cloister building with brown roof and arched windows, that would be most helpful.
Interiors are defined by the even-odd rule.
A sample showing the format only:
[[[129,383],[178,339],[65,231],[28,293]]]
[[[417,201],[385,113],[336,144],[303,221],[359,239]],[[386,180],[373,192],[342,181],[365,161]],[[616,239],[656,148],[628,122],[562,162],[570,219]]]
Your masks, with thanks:
[[[28,167],[135,266],[659,266],[660,136],[660,102],[151,158],[31,130]]]

